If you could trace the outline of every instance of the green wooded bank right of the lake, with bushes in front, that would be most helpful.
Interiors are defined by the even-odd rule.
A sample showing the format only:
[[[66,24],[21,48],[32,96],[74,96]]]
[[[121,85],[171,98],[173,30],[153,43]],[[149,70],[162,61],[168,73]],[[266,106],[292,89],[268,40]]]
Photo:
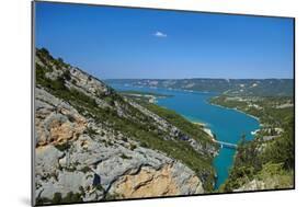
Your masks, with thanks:
[[[212,103],[237,108],[260,118],[255,139],[238,145],[235,164],[220,192],[231,192],[255,180],[265,188],[294,186],[294,106],[292,97],[235,97],[221,95]]]

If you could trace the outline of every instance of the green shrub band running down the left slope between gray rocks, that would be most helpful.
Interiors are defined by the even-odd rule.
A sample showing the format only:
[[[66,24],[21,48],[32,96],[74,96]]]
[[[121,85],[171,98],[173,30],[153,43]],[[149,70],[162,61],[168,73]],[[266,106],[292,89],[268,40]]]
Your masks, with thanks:
[[[38,53],[42,51],[38,50]],[[43,58],[48,62],[48,57],[44,56]],[[66,82],[71,80],[67,80],[64,76],[60,76],[56,80],[48,79],[46,73],[49,70],[49,65],[47,64],[46,66],[46,68],[39,66],[36,67],[37,87],[44,88],[53,95],[68,102],[82,115],[93,118],[96,123],[112,127],[115,131],[119,131],[125,137],[135,139],[140,143],[140,146],[161,151],[173,159],[180,160],[182,163],[196,172],[203,181],[204,187],[207,192],[213,191],[215,173],[212,166],[212,156],[201,154],[185,140],[168,139],[170,135],[159,129],[152,118],[125,102],[121,95],[114,92],[114,90],[110,89],[110,94],[107,96],[102,95],[96,96],[96,99],[104,101],[109,100],[110,103],[116,103],[117,107],[125,108],[125,113],[127,115],[126,117],[118,114],[117,107],[99,106],[92,96],[89,96],[73,88],[67,88]],[[166,116],[168,120],[174,125],[176,124],[175,126],[178,126],[183,133],[195,138],[204,145],[204,147],[209,145],[209,139],[205,133],[185,120],[183,117],[176,116],[174,112],[170,112],[169,114],[167,110],[160,110],[155,105],[147,105],[147,107],[152,110],[155,113],[159,113],[162,117]],[[88,133],[91,134],[92,131],[90,130]],[[106,141],[105,145],[112,143]]]

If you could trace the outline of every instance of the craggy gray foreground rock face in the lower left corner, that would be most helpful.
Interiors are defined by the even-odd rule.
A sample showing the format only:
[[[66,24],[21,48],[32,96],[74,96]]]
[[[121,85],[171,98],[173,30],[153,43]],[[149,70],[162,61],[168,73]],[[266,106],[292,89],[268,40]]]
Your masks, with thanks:
[[[127,175],[138,174],[147,168],[152,174],[171,165],[168,175],[176,185],[170,195],[203,193],[195,173],[179,161],[161,152],[142,148],[130,140],[123,141],[122,134],[95,126],[91,119],[80,115],[68,103],[53,96],[44,89],[36,89],[36,196],[53,199],[56,193],[65,197],[68,193],[83,193],[82,199],[100,200],[106,194],[118,194],[115,187]],[[73,120],[71,117],[75,117]],[[62,130],[50,131],[53,123],[59,123]],[[65,127],[64,127],[65,126]],[[99,133],[89,136],[91,126]],[[66,128],[69,128],[67,131]],[[78,134],[78,136],[77,136]],[[53,137],[57,137],[54,138]],[[68,145],[61,149],[58,146]],[[129,146],[134,145],[134,150]],[[64,147],[62,147],[64,148]],[[96,179],[96,183],[94,182]],[[135,182],[138,182],[138,179]],[[192,181],[193,185],[191,184]],[[129,182],[129,179],[128,181]],[[151,186],[153,187],[153,186]],[[82,191],[81,191],[82,189]],[[125,195],[123,189],[123,195]],[[133,191],[133,189],[132,189]],[[151,196],[152,194],[140,194]]]

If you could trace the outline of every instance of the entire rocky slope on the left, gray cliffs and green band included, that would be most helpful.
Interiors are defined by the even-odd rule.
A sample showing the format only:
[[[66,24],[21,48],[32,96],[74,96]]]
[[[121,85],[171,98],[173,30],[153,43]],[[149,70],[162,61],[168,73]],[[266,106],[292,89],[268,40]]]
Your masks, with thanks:
[[[37,205],[213,189],[208,137],[194,139],[46,49],[35,62]]]

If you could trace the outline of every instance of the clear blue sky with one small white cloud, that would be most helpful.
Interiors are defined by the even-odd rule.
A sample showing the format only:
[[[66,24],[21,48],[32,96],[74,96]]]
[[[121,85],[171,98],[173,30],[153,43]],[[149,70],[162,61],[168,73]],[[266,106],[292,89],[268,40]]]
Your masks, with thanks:
[[[35,45],[101,78],[293,78],[293,20],[36,2]]]

